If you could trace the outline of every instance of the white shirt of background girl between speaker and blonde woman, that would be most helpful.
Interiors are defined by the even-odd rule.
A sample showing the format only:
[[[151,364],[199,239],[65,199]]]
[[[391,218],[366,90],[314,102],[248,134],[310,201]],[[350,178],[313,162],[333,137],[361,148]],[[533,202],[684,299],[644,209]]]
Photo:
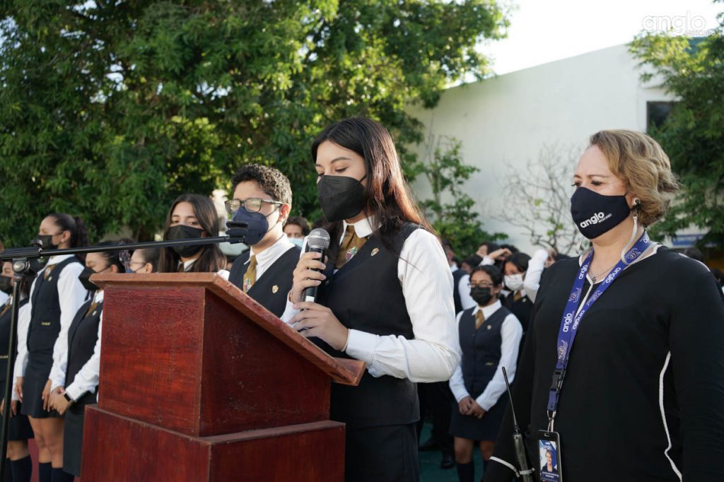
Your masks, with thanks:
[[[473,310],[473,316],[475,316],[479,310],[483,310],[483,316],[485,316],[485,319],[488,319],[493,313],[499,310],[501,306],[500,300],[483,308],[476,306]],[[460,323],[460,317],[462,315],[462,311],[458,313],[458,324]],[[456,334],[458,334],[457,331]],[[511,384],[515,379],[515,371],[518,368],[518,350],[521,347],[521,338],[523,337],[523,327],[513,313],[510,313],[510,315],[506,316],[505,320],[503,320],[502,326],[500,327],[500,337],[502,339],[500,345],[500,362],[497,365],[493,378],[488,382],[480,396],[475,399],[477,404],[486,412],[490,410],[497,403],[500,396],[505,393],[505,378],[502,376],[502,368],[505,367],[505,371],[508,372],[508,381],[510,381]],[[459,340],[458,350],[460,350]],[[465,397],[471,396],[465,388],[462,363],[458,365],[458,368],[455,368],[455,373],[452,373],[452,377],[450,377],[450,391],[458,402]]]

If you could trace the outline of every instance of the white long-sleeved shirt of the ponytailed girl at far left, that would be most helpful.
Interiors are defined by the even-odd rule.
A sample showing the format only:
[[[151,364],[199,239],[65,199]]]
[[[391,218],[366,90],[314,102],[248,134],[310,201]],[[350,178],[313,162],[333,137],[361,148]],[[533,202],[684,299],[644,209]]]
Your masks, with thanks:
[[[28,307],[27,320],[18,320],[17,326],[17,360],[15,361],[14,375],[25,376],[25,367],[28,365],[28,329],[30,328],[30,317],[33,313],[33,292],[35,291],[35,283],[38,282],[38,278],[45,274],[45,270],[48,266],[53,266],[58,263],[62,263],[72,255],[56,255],[52,256],[46,266],[41,269],[38,276],[35,276],[32,286],[30,286],[30,301],[25,305]],[[88,290],[83,287],[83,284],[78,279],[80,273],[85,269],[83,263],[71,263],[66,266],[60,273],[58,279],[58,299],[60,305],[60,332],[55,340],[53,347],[53,365],[65,366],[68,360],[68,329],[70,324],[75,318],[77,313],[85,299],[88,297]],[[55,273],[51,273],[51,276],[55,276]],[[51,370],[51,379],[54,373]]]

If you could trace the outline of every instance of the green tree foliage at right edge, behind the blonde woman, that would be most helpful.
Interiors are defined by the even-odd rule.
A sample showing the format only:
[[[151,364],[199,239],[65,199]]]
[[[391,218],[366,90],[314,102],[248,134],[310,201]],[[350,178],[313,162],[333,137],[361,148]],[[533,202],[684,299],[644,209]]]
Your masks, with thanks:
[[[631,51],[650,72],[664,79],[678,102],[652,132],[668,153],[684,185],[665,219],[654,228],[673,235],[696,225],[702,243],[724,247],[724,23],[704,38],[642,34]]]

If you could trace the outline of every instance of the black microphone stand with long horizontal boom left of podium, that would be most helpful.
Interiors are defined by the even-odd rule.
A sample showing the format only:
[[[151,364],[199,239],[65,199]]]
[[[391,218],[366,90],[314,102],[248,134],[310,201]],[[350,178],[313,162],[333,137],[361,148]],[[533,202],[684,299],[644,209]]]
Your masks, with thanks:
[[[232,228],[232,226],[229,226]],[[0,454],[3,462],[0,463],[0,481],[4,481],[5,477],[5,456],[7,454],[7,442],[10,428],[10,411],[12,405],[12,386],[13,386],[13,368],[15,365],[15,355],[17,352],[17,313],[20,310],[20,284],[23,275],[30,269],[30,260],[44,258],[46,256],[57,255],[75,255],[85,253],[107,253],[109,251],[139,250],[144,248],[173,248],[174,246],[196,246],[196,245],[214,245],[219,242],[229,242],[236,244],[244,242],[246,237],[246,224],[234,223],[232,229],[227,231],[226,236],[216,237],[197,237],[188,240],[170,240],[170,241],[149,241],[149,242],[129,242],[127,244],[107,245],[107,246],[85,246],[83,248],[67,248],[62,250],[44,250],[43,243],[40,240],[33,241],[30,248],[12,248],[4,250],[0,253],[0,262],[12,261],[12,271],[14,286],[12,287],[12,308],[10,316],[10,337],[7,348],[7,371],[5,373],[5,405],[2,413],[2,431]]]

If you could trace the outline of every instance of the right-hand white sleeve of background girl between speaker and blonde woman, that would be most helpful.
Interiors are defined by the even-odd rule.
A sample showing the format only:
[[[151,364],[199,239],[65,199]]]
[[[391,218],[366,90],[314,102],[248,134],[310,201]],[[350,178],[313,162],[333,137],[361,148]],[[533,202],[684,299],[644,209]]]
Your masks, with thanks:
[[[500,363],[498,363],[493,378],[475,400],[486,412],[497,403],[500,395],[505,393],[505,378],[502,376],[502,368],[505,367],[505,371],[508,373],[508,381],[511,384],[515,380],[518,350],[521,347],[521,338],[523,337],[523,327],[518,318],[515,318],[515,315],[510,314],[505,317],[500,327],[500,337],[502,338]]]

